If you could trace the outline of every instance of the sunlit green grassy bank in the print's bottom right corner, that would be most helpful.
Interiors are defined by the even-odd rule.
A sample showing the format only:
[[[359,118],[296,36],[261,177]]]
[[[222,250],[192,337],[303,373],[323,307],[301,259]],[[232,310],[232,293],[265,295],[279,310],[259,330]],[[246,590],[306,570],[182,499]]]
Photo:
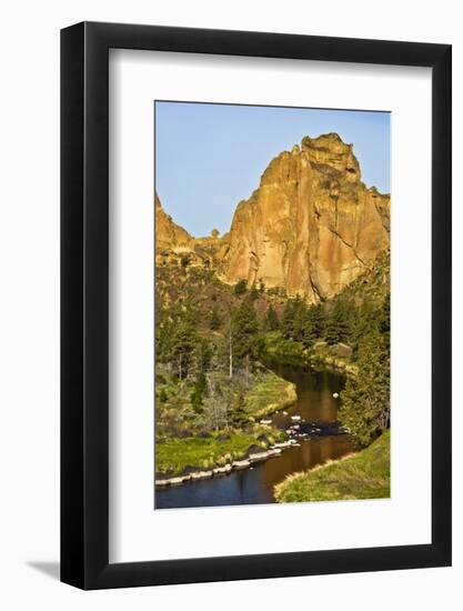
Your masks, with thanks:
[[[384,499],[390,497],[390,432],[369,448],[275,485],[280,503]]]

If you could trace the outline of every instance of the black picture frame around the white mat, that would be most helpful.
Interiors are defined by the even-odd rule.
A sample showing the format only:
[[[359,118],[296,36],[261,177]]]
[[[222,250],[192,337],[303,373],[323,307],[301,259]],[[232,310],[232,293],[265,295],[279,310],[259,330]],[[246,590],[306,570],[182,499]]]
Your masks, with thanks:
[[[432,542],[109,562],[109,49],[432,69]],[[451,46],[82,22],[61,31],[61,581],[120,588],[451,564]]]

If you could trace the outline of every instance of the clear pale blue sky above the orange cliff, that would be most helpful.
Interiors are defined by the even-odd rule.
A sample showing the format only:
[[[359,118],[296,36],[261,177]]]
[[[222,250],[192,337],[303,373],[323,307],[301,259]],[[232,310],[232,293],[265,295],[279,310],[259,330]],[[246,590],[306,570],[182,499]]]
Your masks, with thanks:
[[[335,131],[354,144],[362,180],[390,191],[390,113],[155,102],[155,189],[195,237],[230,229],[269,162],[304,136]]]

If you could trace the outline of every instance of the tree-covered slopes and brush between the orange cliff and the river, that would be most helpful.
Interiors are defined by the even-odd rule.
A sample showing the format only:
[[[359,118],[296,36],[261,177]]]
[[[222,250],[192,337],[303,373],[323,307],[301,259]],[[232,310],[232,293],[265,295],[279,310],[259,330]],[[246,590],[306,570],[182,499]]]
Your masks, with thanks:
[[[220,465],[228,454],[243,455],[245,443],[269,445],[259,439],[260,419],[296,395],[261,364],[265,355],[352,373],[340,420],[359,447],[389,428],[387,253],[316,304],[263,284],[231,287],[180,254],[157,268],[155,329],[158,474]]]

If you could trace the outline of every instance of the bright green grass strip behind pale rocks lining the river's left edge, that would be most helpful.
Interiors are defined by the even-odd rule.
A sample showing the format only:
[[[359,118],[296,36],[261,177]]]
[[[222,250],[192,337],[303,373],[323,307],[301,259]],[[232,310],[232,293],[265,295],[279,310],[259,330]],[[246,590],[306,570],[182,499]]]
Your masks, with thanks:
[[[183,473],[187,467],[205,470],[227,464],[244,458],[251,445],[260,445],[263,450],[265,444],[258,440],[262,433],[269,439],[269,443],[280,440],[282,434],[275,429],[255,427],[252,433],[233,431],[229,433],[229,439],[220,437],[224,435],[223,432],[209,438],[168,439],[157,443],[155,470],[173,477]]]

